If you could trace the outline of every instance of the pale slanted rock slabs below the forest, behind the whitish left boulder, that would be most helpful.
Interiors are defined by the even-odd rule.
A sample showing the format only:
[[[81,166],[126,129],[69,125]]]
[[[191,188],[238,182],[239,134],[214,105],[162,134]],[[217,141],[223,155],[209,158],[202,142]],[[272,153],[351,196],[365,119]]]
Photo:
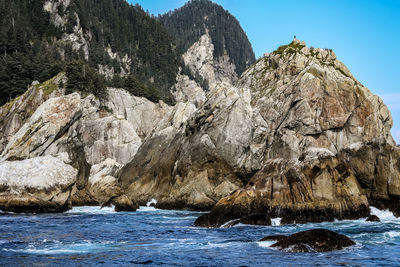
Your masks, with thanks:
[[[113,177],[117,170],[133,158],[143,140],[157,129],[170,126],[171,121],[184,120],[186,117],[179,113],[179,108],[185,109],[186,105],[174,109],[112,88],[105,103],[93,95],[85,98],[79,93],[64,95],[58,86],[63,80],[61,74],[43,84],[35,83],[17,100],[1,107],[1,160],[28,164],[25,160],[43,156],[62,158],[77,170],[72,183],[75,190],[65,195],[68,198],[63,201],[69,204],[63,209],[71,203],[99,205],[123,193]],[[170,120],[170,116],[174,119]],[[26,180],[33,177],[26,173]],[[20,197],[9,196],[13,198]],[[47,206],[54,204],[52,198],[46,201]],[[62,210],[59,202],[54,208],[45,208],[43,204],[42,209],[36,207],[36,202],[36,198],[27,198],[24,208],[34,212]],[[29,203],[34,207],[28,208]],[[12,205],[8,206],[10,210]]]

